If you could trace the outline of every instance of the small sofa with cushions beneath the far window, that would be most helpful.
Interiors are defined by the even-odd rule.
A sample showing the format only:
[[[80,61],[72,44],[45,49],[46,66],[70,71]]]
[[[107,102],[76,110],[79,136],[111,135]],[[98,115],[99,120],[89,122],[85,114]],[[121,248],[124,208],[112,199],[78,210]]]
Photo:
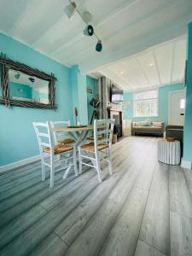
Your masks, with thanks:
[[[148,134],[163,137],[164,123],[163,122],[131,122],[131,135]]]

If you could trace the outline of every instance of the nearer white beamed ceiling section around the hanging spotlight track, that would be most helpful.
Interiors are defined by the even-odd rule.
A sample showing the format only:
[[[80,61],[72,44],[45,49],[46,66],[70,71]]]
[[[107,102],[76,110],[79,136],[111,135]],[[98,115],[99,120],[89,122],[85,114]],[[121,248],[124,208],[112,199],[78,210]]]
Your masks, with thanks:
[[[69,67],[79,64],[82,73],[93,73],[186,34],[192,20],[192,0],[75,2],[93,15],[91,24],[102,39],[101,53],[95,50],[96,38],[84,36],[79,15],[73,20],[64,15],[67,0],[0,0],[0,32]]]

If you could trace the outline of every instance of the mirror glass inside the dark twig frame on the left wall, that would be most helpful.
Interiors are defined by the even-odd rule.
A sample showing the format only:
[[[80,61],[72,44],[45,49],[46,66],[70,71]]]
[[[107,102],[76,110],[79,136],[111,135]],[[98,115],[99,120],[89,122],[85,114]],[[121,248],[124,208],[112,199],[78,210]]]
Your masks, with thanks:
[[[14,100],[49,104],[49,81],[9,69],[9,96]]]

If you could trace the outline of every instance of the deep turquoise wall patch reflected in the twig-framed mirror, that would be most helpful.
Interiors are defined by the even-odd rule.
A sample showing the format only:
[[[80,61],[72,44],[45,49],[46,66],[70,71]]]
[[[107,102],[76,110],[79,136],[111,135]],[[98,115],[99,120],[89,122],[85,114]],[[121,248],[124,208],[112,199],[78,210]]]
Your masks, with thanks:
[[[9,90],[10,96],[32,99],[32,87],[29,85],[10,82]]]

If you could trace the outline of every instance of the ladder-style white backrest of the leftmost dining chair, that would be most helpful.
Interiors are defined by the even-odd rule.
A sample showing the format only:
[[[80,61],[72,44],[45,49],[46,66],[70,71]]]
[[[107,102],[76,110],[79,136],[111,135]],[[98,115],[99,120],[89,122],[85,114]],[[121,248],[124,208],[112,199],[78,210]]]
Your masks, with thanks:
[[[38,138],[38,147],[40,154],[43,154],[44,148],[50,148],[50,154],[54,154],[54,140],[50,123],[32,122],[32,125]]]

